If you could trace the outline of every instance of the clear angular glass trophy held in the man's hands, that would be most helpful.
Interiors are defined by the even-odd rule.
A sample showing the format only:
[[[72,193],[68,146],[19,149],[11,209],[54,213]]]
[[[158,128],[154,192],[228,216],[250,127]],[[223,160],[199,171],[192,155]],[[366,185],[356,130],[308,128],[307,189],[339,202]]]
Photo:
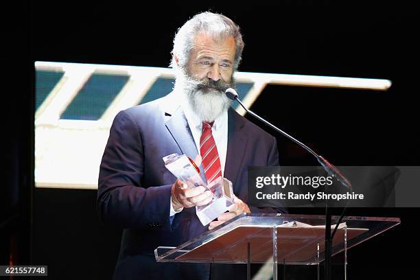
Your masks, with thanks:
[[[200,177],[200,169],[185,154],[170,154],[163,157],[165,167],[189,188],[203,186],[213,193],[213,199],[207,205],[196,206],[198,219],[203,226],[209,224],[233,205],[233,187],[230,180],[219,177],[206,185]]]

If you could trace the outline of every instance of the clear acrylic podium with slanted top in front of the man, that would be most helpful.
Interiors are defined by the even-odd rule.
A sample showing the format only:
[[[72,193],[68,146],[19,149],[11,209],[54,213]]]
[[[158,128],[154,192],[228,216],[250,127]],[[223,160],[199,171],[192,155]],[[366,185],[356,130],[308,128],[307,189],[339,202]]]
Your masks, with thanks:
[[[338,218],[332,217],[331,232]],[[347,279],[347,250],[399,223],[399,218],[344,217],[331,250],[333,256],[343,252],[343,279]],[[176,248],[158,247],[154,255],[158,262],[248,264],[248,275],[250,264],[265,264],[277,280],[277,264],[319,268],[325,259],[324,241],[324,215],[251,213],[238,215]]]

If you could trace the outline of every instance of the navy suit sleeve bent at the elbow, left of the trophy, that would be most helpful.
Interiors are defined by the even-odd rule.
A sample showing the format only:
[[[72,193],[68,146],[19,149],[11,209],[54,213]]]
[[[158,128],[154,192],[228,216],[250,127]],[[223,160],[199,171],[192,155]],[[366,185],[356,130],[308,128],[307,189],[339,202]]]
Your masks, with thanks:
[[[170,231],[172,185],[142,187],[144,161],[140,130],[132,117],[121,111],[110,128],[100,165],[100,219],[122,228],[159,227]]]

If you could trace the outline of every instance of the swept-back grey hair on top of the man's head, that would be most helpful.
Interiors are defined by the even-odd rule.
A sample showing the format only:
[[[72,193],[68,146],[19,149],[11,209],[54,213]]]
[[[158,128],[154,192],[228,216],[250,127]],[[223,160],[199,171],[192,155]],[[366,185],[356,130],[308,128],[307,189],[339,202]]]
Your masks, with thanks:
[[[194,48],[194,38],[200,32],[211,34],[216,42],[232,36],[235,39],[236,51],[233,67],[235,71],[240,65],[242,59],[242,50],[244,49],[244,41],[240,27],[231,19],[213,12],[202,12],[196,14],[192,19],[184,23],[178,29],[174,38],[174,49],[172,49],[171,67],[176,68],[175,56],[178,58],[180,67],[186,67],[189,55]]]

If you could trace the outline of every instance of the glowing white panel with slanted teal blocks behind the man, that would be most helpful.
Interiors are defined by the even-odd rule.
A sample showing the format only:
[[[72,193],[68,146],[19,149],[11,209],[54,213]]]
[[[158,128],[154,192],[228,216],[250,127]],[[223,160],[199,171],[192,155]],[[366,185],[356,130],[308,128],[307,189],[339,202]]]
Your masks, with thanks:
[[[36,62],[35,185],[96,189],[112,121],[120,110],[170,93],[174,70]],[[388,80],[235,73],[250,107],[267,84],[386,90]],[[237,105],[234,105],[237,106]],[[244,115],[242,108],[235,107]]]

